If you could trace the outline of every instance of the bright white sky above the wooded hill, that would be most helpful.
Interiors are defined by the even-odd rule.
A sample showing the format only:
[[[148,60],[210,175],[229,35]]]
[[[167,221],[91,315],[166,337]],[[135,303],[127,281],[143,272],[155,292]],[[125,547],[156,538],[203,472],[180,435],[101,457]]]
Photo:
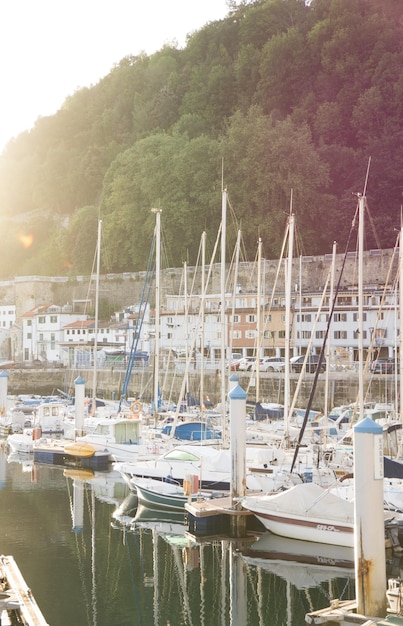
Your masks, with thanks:
[[[227,14],[226,0],[0,0],[0,151],[123,57]]]

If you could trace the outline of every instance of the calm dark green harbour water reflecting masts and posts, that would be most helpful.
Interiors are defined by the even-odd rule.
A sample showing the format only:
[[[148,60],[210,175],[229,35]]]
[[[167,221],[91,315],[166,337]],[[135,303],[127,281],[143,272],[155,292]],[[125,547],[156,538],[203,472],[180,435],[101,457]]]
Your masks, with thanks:
[[[329,566],[311,549],[297,563],[270,536],[193,542],[180,517],[136,509],[115,472],[74,475],[0,448],[0,487],[0,553],[50,626],[302,626],[307,611],[355,595],[351,562]]]

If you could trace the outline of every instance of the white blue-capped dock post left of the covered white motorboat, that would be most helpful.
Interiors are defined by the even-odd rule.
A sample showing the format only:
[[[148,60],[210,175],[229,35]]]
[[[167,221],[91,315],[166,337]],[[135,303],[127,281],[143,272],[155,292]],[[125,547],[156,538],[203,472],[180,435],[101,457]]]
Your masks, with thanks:
[[[231,451],[231,506],[240,507],[238,498],[246,495],[246,392],[236,385],[228,394]],[[246,516],[231,516],[234,536],[243,537],[246,532]]]

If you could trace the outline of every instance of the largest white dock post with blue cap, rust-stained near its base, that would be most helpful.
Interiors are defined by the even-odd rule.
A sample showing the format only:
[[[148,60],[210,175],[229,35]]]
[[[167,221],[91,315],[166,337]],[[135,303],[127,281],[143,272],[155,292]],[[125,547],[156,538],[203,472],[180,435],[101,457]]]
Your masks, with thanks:
[[[354,558],[357,612],[386,614],[382,427],[369,417],[354,427]]]

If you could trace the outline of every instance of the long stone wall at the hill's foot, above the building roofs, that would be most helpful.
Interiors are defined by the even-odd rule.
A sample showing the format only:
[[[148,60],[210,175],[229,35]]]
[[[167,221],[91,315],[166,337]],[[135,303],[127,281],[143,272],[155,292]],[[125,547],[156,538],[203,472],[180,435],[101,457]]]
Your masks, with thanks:
[[[369,250],[364,253],[365,277],[368,286],[383,285],[388,273],[396,275],[398,268],[397,255],[393,250]],[[341,254],[336,255],[336,282],[343,262]],[[331,269],[332,255],[304,256],[293,260],[293,280],[301,291],[322,292]],[[283,262],[284,263],[284,262]],[[264,293],[271,293],[278,271],[278,260],[264,260],[263,281]],[[343,288],[357,285],[356,254],[347,254],[341,286]],[[228,272],[231,268],[228,266]],[[201,289],[201,272],[195,267],[188,267],[188,284],[194,284],[194,293]],[[124,274],[105,274],[100,276],[100,300],[112,302],[115,310],[138,303],[141,298],[145,272]],[[169,268],[161,271],[161,303],[167,295],[180,294],[183,278],[182,268]],[[215,264],[212,268],[210,288],[211,294],[220,293],[221,267]],[[237,285],[243,293],[256,293],[258,272],[254,263],[240,263],[237,271]],[[232,288],[229,288],[231,290]],[[153,291],[153,290],[152,290]],[[284,292],[284,271],[277,278],[276,291]],[[154,302],[150,294],[151,306]],[[38,304],[55,304],[57,306],[81,305],[90,299],[95,302],[95,277],[50,277],[50,276],[19,276],[9,281],[0,281],[0,305],[16,305],[17,321],[27,311]],[[77,307],[76,307],[77,310]]]

